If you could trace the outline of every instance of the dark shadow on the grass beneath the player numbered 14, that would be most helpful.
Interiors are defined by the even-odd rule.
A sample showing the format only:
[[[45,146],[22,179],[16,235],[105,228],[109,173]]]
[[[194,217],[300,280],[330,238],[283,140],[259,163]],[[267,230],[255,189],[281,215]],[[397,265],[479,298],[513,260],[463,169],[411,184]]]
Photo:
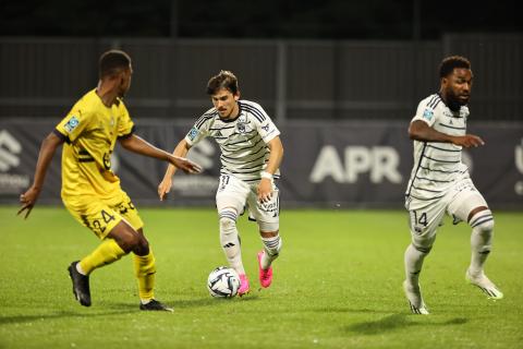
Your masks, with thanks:
[[[464,317],[454,317],[445,322],[434,322],[434,321],[427,322],[426,320],[430,318],[428,316],[392,314],[389,316],[385,316],[378,321],[368,321],[368,322],[356,323],[350,326],[345,326],[343,327],[343,329],[345,332],[358,333],[362,335],[378,335],[385,332],[390,332],[390,330],[405,328],[405,327],[462,325],[469,321]]]

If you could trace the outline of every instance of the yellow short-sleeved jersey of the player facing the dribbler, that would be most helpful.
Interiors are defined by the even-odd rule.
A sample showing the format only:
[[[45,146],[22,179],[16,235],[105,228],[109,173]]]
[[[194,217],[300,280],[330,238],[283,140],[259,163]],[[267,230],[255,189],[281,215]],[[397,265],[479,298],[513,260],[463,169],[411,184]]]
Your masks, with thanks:
[[[131,136],[134,123],[119,98],[107,107],[93,89],[85,94],[57,125],[65,141],[62,151],[62,198],[96,195],[110,198],[120,191],[111,170],[111,154],[118,139]]]

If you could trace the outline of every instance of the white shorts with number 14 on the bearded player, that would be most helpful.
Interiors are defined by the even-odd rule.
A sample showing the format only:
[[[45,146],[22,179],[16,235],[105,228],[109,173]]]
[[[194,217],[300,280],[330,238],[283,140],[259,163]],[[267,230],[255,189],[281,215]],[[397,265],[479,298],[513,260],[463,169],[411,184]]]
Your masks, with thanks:
[[[443,197],[433,201],[408,200],[409,226],[412,243],[416,248],[429,249],[436,239],[438,227],[443,225],[445,214],[454,218],[454,224],[467,221],[469,214],[487,202],[470,178],[454,183]]]

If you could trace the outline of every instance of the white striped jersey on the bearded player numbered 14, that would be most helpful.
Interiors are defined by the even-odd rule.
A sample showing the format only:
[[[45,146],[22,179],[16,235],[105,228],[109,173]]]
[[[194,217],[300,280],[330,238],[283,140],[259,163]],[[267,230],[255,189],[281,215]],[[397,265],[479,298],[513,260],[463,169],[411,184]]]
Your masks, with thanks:
[[[411,122],[422,120],[441,133],[465,135],[469,108],[452,111],[439,94],[423,99]],[[462,147],[452,143],[414,141],[414,166],[406,189],[406,200],[431,201],[445,196],[447,190],[469,178],[469,168],[461,161]]]

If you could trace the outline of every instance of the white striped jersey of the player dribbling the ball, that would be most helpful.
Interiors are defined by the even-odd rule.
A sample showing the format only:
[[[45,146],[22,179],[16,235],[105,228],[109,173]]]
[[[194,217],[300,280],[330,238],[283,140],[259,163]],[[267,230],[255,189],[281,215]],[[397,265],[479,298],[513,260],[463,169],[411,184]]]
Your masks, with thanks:
[[[206,111],[193,125],[185,141],[195,145],[210,136],[221,149],[221,174],[232,174],[244,181],[257,181],[266,168],[270,151],[267,146],[280,134],[272,120],[258,104],[239,100],[239,117],[220,119],[216,108]],[[275,173],[278,177],[278,172]]]

